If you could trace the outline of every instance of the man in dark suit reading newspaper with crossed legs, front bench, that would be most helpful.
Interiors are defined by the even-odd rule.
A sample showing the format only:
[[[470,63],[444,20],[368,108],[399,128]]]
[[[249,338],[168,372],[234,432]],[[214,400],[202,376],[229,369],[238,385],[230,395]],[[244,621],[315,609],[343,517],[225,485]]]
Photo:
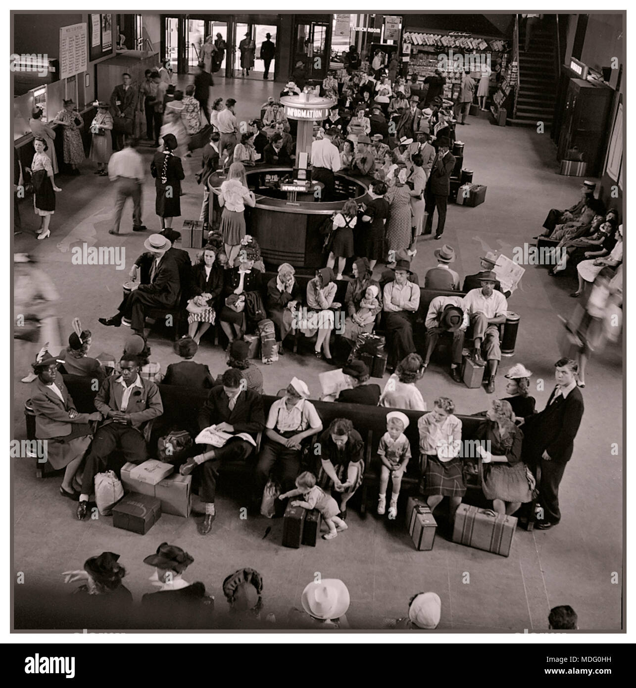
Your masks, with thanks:
[[[215,519],[214,499],[218,468],[224,461],[247,458],[256,446],[256,435],[265,427],[263,401],[260,394],[247,389],[242,372],[229,368],[223,374],[223,386],[213,387],[208,400],[199,411],[199,429],[216,425],[226,433],[248,433],[254,442],[240,437],[231,438],[223,447],[206,445],[206,451],[191,457],[179,469],[181,475],[195,475],[200,480],[200,497],[205,504],[205,515],[199,524],[199,533],[206,535]]]

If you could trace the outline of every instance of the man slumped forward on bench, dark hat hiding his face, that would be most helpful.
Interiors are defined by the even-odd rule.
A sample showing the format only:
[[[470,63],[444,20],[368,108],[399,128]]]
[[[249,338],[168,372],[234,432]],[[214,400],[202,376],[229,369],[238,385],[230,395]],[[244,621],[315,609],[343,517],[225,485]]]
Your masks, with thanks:
[[[426,370],[430,363],[440,335],[448,332],[453,338],[450,374],[456,383],[462,381],[459,366],[462,362],[464,336],[468,323],[468,313],[464,308],[463,299],[460,297],[439,296],[431,301],[425,321],[426,354],[424,356],[424,370]]]

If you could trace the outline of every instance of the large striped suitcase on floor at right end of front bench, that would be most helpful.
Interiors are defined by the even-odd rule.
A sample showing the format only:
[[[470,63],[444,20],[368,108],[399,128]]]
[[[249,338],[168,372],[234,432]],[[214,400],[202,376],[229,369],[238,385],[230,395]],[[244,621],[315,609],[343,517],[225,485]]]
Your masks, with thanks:
[[[514,516],[460,504],[455,512],[453,542],[507,557],[516,528]]]

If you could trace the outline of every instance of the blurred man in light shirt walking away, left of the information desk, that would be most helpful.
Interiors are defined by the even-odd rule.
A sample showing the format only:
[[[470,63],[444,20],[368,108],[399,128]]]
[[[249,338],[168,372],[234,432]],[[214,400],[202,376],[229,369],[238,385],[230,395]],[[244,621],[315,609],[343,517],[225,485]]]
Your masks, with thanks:
[[[115,184],[115,215],[109,234],[119,234],[121,215],[124,211],[126,199],[133,200],[133,231],[143,232],[145,226],[141,223],[141,189],[144,183],[144,162],[136,151],[136,140],[127,136],[123,151],[116,151],[108,161],[108,178]]]

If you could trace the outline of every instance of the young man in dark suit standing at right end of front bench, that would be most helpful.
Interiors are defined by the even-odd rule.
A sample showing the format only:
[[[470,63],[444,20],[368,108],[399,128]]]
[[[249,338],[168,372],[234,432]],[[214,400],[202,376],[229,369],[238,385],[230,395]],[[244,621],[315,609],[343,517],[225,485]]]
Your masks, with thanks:
[[[554,367],[557,385],[547,406],[529,416],[523,425],[527,461],[531,466],[541,466],[539,501],[543,517],[537,524],[540,530],[552,528],[561,520],[559,485],[572,456],[584,411],[583,395],[577,387],[578,364],[570,358],[560,358]]]

